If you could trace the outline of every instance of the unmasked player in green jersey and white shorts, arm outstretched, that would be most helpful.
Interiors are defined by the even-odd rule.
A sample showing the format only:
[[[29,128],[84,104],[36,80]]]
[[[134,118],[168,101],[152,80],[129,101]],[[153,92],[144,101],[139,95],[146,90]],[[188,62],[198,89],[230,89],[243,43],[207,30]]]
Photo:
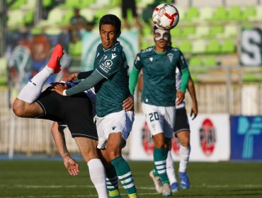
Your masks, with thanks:
[[[120,197],[118,179],[129,197],[137,197],[130,167],[121,154],[132,129],[134,112],[122,110],[123,101],[130,91],[125,52],[117,40],[120,29],[121,21],[117,16],[103,16],[99,22],[101,44],[97,47],[94,70],[81,77],[76,75],[77,78],[84,78],[84,81],[72,88],[57,85],[53,89],[61,95],[74,95],[95,86],[98,148],[108,162],[106,175],[109,196],[115,198]],[[72,76],[62,80],[71,81]],[[115,177],[114,170],[118,177]]]

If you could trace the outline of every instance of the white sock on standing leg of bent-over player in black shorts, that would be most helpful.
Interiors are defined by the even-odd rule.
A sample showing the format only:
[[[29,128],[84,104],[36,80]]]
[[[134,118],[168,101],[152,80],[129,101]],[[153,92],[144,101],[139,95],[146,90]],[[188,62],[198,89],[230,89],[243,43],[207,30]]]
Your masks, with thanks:
[[[106,171],[100,159],[91,159],[87,165],[89,166],[89,175],[93,185],[96,187],[98,198],[107,198],[106,190]]]

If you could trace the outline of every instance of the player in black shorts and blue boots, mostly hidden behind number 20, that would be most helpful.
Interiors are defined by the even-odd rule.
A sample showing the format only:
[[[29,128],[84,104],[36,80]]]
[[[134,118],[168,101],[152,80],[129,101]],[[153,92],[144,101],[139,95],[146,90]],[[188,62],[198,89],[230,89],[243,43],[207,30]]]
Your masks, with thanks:
[[[169,38],[169,46],[171,46],[171,37]],[[138,89],[142,92],[143,85],[143,73],[140,72],[139,80],[138,80]],[[178,68],[176,68],[176,90],[178,91],[181,85],[181,73]],[[188,93],[190,94],[190,98],[192,99],[192,109],[190,112],[190,116],[193,116],[192,120],[195,119],[198,115],[198,100],[195,94],[195,86],[193,83],[193,79],[189,78],[188,80]],[[181,146],[179,149],[180,154],[180,163],[178,169],[178,175],[180,177],[181,188],[188,189],[190,187],[190,182],[188,179],[188,175],[186,173],[189,156],[190,156],[190,126],[188,122],[188,116],[186,115],[186,102],[182,101],[182,103],[176,103],[176,121],[174,134],[178,138]],[[173,158],[171,156],[171,151],[169,151],[166,158],[166,173],[169,177],[170,187],[172,192],[178,192],[178,182],[176,180],[175,168],[173,166]],[[156,192],[161,192],[162,185],[161,180],[158,176],[154,176],[153,170],[149,173],[150,177],[154,181]]]

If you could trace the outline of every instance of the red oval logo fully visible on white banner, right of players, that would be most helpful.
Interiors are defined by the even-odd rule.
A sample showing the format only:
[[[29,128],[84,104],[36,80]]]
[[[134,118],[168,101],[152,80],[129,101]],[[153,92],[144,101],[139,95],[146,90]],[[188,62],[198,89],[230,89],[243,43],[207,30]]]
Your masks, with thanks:
[[[215,126],[210,119],[205,119],[202,122],[202,127],[199,129],[200,146],[206,156],[210,156],[215,149]]]

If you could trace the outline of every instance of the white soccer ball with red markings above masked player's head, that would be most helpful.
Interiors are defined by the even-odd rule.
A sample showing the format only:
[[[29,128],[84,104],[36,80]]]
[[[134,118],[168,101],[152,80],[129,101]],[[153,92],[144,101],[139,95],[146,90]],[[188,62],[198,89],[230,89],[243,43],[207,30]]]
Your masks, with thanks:
[[[154,25],[162,30],[175,28],[179,21],[179,13],[171,4],[160,4],[154,8],[152,15]]]

